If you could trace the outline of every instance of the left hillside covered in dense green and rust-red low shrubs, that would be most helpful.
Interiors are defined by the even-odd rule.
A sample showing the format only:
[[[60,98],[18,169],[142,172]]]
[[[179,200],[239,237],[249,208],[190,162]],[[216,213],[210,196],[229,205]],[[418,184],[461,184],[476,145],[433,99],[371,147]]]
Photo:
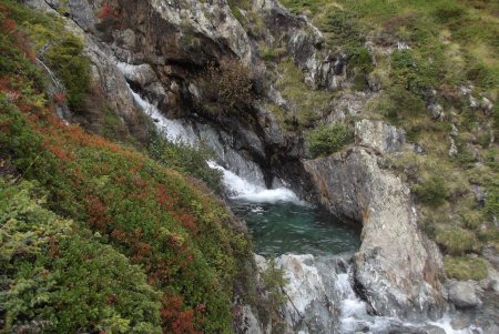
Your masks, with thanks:
[[[69,71],[88,70],[81,41],[61,27],[0,4],[0,332],[230,332],[245,234],[200,181],[165,168],[185,168],[180,153],[156,146],[159,163],[54,115],[41,38],[73,111],[89,93]]]

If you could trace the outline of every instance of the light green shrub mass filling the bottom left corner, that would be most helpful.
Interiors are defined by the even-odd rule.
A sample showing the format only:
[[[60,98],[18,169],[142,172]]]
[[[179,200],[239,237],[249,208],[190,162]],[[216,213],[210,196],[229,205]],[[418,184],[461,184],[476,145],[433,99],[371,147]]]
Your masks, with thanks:
[[[38,191],[0,179],[4,333],[161,333],[161,294],[141,269],[42,209]]]

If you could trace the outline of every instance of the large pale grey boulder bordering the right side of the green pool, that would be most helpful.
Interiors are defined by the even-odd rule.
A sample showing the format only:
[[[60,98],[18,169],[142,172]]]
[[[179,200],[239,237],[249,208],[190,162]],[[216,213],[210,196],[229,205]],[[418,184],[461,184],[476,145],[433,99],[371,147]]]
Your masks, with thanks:
[[[364,148],[304,164],[318,200],[337,216],[363,223],[355,280],[373,312],[438,316],[446,308],[441,257],[417,227],[409,189]]]

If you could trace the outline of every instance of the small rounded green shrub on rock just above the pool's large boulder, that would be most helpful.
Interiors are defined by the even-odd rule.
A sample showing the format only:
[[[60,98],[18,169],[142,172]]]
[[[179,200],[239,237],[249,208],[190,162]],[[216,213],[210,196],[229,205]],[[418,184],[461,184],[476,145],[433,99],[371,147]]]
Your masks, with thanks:
[[[353,141],[349,129],[344,124],[320,125],[307,134],[307,144],[314,158],[325,156],[342,150]]]

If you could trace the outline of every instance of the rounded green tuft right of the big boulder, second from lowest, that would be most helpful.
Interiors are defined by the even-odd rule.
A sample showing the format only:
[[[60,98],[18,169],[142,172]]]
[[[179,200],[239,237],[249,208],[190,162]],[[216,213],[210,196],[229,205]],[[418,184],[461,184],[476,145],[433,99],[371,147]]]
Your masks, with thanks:
[[[447,254],[455,256],[472,251],[478,243],[471,231],[457,226],[437,229],[435,240]]]

